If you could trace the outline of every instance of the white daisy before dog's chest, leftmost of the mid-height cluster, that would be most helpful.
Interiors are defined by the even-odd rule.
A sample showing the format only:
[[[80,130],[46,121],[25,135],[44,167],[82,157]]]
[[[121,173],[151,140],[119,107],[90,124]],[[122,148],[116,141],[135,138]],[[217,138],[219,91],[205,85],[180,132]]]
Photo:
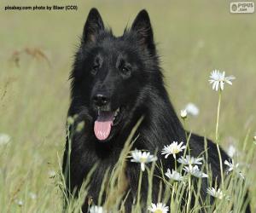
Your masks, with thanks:
[[[131,162],[140,163],[141,169],[145,170],[145,164],[151,163],[157,160],[157,157],[149,152],[138,151],[137,149],[131,152]]]

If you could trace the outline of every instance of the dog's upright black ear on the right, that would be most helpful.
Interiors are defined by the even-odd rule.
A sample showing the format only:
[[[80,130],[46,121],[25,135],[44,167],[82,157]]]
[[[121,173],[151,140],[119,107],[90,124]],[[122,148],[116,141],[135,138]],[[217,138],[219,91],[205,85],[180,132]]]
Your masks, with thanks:
[[[153,30],[150,24],[148,12],[143,9],[138,14],[136,19],[133,21],[131,31],[137,33],[139,42],[148,48],[154,47]]]

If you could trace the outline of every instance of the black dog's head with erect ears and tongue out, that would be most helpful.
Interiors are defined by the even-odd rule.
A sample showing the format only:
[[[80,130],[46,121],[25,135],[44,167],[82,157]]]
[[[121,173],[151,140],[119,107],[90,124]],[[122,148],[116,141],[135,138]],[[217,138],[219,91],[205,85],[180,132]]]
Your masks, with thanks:
[[[91,9],[73,67],[72,98],[87,107],[99,141],[108,141],[147,104],[152,82],[161,81],[153,31],[146,10],[120,37]]]

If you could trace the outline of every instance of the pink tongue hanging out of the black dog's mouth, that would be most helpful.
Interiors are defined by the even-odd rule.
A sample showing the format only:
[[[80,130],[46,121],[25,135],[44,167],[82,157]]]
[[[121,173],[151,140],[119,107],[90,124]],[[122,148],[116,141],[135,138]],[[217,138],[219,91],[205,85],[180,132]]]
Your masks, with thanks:
[[[94,133],[100,141],[106,140],[113,124],[114,112],[100,112],[94,123]]]

